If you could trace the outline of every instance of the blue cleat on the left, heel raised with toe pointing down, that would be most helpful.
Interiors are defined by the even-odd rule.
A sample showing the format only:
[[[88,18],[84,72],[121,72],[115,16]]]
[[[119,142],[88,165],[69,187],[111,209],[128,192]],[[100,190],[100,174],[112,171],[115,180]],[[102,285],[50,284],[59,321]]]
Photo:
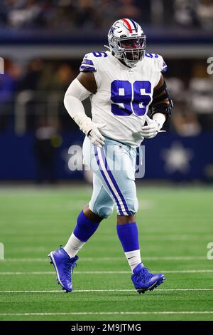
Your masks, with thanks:
[[[50,252],[48,256],[50,257],[50,264],[53,264],[55,268],[58,284],[62,286],[65,292],[72,292],[71,270],[73,273],[73,269],[77,265],[75,261],[77,261],[78,256],[70,258],[62,247]]]

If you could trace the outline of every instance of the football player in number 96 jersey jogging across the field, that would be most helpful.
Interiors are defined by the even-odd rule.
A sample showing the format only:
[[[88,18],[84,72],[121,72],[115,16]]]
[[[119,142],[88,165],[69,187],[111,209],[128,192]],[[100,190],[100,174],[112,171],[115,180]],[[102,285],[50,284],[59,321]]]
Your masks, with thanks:
[[[136,154],[144,138],[158,135],[173,105],[162,75],[167,66],[162,56],[146,53],[146,35],[139,24],[132,19],[116,21],[109,29],[108,41],[109,51],[84,56],[80,74],[65,93],[65,108],[86,135],[83,155],[93,170],[93,192],[65,247],[49,256],[58,283],[71,292],[77,252],[116,205],[117,234],[131,267],[131,280],[136,290],[144,293],[158,287],[165,277],[148,272],[141,262]],[[82,105],[88,97],[92,119]]]

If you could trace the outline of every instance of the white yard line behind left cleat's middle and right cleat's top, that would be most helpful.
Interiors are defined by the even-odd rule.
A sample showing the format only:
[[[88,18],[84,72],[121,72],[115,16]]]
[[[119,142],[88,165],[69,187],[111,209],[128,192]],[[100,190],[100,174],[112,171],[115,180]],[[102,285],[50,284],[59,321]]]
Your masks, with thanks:
[[[165,274],[194,274],[194,273],[212,273],[213,270],[209,269],[197,269],[197,270],[159,270],[153,271],[153,273],[165,273]],[[130,271],[75,271],[75,274],[130,274]],[[0,272],[0,276],[6,275],[23,275],[23,274],[55,274],[54,271],[16,271],[16,272]]]

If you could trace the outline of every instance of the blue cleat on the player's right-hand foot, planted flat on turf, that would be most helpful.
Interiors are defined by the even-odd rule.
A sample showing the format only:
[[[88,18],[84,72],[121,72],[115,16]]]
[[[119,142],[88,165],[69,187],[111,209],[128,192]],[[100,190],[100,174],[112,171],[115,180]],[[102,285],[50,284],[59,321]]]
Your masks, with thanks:
[[[163,274],[151,274],[141,263],[133,269],[131,280],[138,293],[141,294],[148,290],[153,291],[155,287],[163,283],[165,277]]]

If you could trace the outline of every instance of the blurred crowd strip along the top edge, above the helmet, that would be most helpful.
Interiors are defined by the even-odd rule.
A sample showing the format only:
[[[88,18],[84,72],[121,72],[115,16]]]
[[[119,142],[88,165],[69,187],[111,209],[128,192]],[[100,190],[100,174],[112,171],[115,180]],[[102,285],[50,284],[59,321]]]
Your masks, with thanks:
[[[94,33],[119,17],[155,26],[212,29],[212,0],[1,0],[1,26]]]

